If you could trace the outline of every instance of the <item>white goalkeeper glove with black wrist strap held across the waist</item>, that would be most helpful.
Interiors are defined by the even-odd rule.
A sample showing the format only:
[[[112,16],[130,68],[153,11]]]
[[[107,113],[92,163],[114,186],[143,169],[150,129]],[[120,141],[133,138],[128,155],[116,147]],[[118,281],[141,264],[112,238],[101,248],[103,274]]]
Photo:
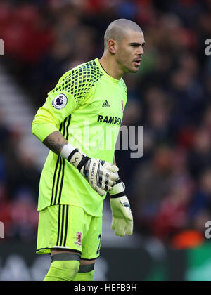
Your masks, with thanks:
[[[75,166],[82,176],[87,179],[91,188],[96,190],[102,197],[105,192],[113,189],[113,185],[118,179],[117,174],[115,174],[119,170],[117,166],[106,161],[89,158],[70,143],[63,146],[60,155],[68,159],[68,162]]]

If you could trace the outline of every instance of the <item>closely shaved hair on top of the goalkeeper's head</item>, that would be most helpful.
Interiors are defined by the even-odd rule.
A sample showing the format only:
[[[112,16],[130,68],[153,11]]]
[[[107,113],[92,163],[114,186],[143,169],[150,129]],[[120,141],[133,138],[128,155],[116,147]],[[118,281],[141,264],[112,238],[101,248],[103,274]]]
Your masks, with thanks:
[[[122,39],[124,39],[124,37],[127,36],[129,31],[142,32],[142,29],[136,24],[136,22],[132,22],[132,20],[127,20],[124,18],[120,18],[119,20],[114,20],[111,22],[106,29],[104,36],[105,49],[108,48],[108,40],[113,39],[119,43]]]

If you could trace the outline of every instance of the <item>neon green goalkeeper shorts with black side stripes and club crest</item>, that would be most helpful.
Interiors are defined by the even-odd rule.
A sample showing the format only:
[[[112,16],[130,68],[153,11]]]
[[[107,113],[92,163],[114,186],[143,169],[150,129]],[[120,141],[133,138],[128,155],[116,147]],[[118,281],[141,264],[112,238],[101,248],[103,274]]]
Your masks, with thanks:
[[[51,249],[79,251],[91,260],[100,255],[102,217],[91,216],[79,206],[55,205],[39,211],[37,254]]]

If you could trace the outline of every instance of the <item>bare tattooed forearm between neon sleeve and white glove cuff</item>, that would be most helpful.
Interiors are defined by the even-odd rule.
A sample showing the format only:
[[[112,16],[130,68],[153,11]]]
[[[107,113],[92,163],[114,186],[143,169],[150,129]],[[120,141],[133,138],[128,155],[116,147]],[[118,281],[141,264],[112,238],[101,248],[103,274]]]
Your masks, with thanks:
[[[64,138],[60,131],[55,131],[47,136],[44,141],[44,145],[48,147],[50,150],[55,152],[57,155],[60,155],[61,150],[64,145],[68,144],[68,141]]]

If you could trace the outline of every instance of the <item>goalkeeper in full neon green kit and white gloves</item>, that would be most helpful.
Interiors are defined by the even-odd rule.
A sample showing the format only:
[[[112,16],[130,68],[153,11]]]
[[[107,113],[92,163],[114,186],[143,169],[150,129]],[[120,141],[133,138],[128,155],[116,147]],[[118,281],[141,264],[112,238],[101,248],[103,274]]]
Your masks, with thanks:
[[[135,22],[112,22],[103,57],[66,72],[32,122],[32,133],[50,150],[38,201],[37,254],[51,254],[45,281],[93,280],[107,192],[112,229],[121,237],[132,235],[114,153],[127,103],[122,76],[139,70],[144,44]]]

